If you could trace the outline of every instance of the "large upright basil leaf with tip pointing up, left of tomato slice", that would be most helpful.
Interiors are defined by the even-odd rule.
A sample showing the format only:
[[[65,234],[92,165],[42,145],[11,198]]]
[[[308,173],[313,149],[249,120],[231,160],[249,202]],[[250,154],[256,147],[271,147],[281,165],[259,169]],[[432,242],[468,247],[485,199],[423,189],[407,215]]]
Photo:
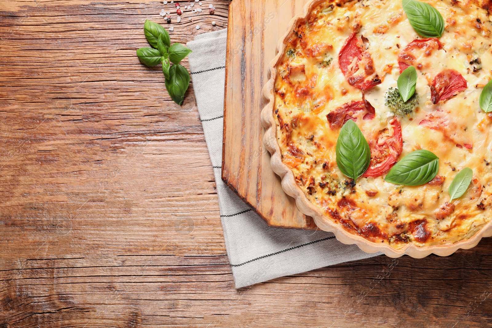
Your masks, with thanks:
[[[338,168],[347,177],[355,180],[367,171],[369,144],[353,120],[349,119],[340,129],[335,151]]]

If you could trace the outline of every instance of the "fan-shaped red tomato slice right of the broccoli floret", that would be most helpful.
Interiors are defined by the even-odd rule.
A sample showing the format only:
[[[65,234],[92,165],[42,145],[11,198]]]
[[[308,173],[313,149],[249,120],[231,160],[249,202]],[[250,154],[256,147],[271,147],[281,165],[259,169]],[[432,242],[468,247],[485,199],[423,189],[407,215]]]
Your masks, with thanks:
[[[454,69],[446,68],[434,77],[431,85],[431,100],[437,104],[440,100],[446,100],[466,89],[468,85],[460,73]]]

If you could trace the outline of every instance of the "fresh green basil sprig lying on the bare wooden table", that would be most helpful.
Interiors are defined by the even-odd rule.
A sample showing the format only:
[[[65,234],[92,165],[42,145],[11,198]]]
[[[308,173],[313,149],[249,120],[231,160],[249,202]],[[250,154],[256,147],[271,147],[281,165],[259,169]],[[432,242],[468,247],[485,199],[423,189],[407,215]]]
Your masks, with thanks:
[[[149,20],[145,21],[144,33],[153,48],[138,49],[138,59],[147,66],[162,63],[162,74],[164,74],[167,92],[177,104],[183,104],[190,76],[186,68],[179,63],[191,53],[191,50],[180,43],[171,46],[169,33],[161,25]],[[171,65],[171,62],[174,65]]]

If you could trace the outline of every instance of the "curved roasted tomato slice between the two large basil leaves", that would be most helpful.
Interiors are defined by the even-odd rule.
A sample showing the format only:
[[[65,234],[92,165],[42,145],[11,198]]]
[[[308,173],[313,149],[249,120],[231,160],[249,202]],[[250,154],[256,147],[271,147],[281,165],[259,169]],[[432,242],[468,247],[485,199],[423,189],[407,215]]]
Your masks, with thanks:
[[[394,117],[390,121],[390,126],[391,130],[382,130],[376,141],[369,142],[370,164],[363,177],[380,177],[397,162],[403,149],[400,121]]]

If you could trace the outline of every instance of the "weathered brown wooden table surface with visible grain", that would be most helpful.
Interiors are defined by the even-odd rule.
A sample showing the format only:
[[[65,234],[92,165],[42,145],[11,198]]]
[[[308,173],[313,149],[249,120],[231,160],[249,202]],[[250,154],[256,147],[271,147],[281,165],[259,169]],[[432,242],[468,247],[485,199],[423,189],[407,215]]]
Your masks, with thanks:
[[[225,28],[212,3],[171,40]],[[192,87],[135,56],[163,7],[0,1],[1,328],[492,325],[492,239],[235,290]]]

